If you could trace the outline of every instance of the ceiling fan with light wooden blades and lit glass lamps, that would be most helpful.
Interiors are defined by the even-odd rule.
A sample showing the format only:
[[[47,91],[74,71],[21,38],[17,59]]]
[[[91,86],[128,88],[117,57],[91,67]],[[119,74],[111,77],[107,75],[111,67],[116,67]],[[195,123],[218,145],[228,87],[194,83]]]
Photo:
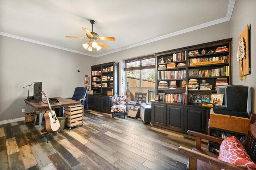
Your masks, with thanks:
[[[100,40],[107,40],[107,41],[115,41],[116,39],[114,37],[99,37],[99,35],[95,32],[93,32],[93,24],[95,23],[94,20],[90,20],[90,23],[92,24],[92,32],[90,32],[86,28],[82,28],[86,32],[87,37],[71,37],[66,36],[66,38],[84,38],[84,39],[90,39],[87,43],[83,44],[84,48],[88,51],[99,51],[102,47],[105,49],[109,49],[109,47],[102,43]]]

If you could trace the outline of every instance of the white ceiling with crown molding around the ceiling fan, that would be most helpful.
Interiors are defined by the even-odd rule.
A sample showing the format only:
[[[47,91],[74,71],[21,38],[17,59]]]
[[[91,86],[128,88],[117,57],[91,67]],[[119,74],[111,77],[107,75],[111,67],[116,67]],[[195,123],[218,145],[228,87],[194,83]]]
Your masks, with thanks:
[[[229,21],[235,0],[1,0],[0,35],[99,57]],[[82,27],[109,49],[90,52]]]

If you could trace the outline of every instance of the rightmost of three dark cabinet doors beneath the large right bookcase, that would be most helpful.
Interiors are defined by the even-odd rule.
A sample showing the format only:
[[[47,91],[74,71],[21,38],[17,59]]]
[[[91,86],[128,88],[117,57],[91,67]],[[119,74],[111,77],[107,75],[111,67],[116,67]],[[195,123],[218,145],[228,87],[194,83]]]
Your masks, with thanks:
[[[205,131],[205,109],[184,107],[185,108],[185,131],[191,130],[200,133]]]

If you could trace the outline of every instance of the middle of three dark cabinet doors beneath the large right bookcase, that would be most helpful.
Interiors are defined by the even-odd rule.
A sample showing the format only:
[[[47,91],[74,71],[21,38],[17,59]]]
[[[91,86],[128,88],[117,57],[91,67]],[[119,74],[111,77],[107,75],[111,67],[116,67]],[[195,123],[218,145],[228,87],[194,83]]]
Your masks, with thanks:
[[[184,132],[184,107],[167,105],[167,127]]]

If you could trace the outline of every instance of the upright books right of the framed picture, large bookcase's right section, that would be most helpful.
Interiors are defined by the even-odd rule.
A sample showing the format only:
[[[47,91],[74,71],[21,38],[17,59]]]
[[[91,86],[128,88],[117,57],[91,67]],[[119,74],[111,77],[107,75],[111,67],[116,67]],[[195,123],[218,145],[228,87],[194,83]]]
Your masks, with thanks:
[[[199,70],[199,77],[229,76],[229,66],[212,68],[210,70]]]

